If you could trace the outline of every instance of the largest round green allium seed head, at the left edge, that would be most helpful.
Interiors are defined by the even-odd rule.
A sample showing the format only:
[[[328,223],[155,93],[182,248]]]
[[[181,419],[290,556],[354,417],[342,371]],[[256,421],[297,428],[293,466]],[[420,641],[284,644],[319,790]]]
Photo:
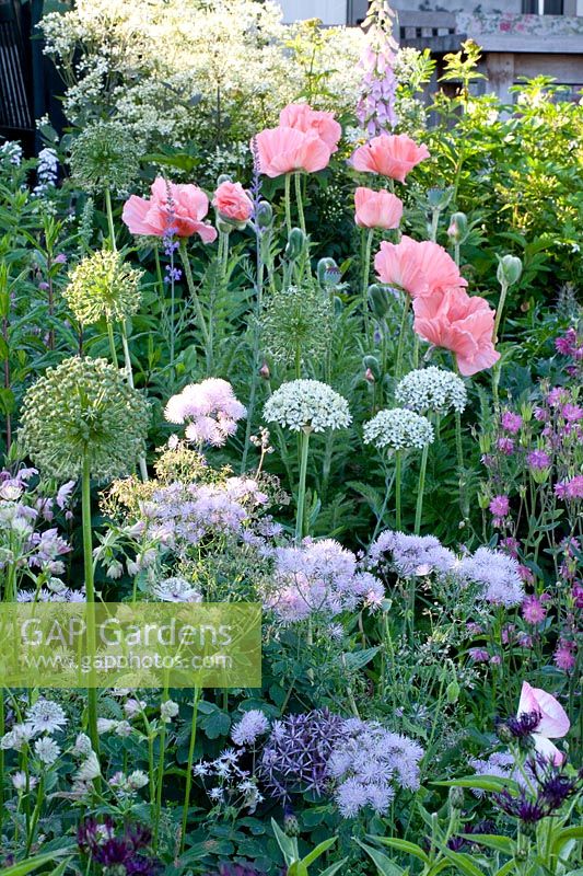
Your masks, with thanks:
[[[150,407],[106,359],[66,359],[26,392],[21,440],[44,475],[100,481],[128,474],[145,452]]]

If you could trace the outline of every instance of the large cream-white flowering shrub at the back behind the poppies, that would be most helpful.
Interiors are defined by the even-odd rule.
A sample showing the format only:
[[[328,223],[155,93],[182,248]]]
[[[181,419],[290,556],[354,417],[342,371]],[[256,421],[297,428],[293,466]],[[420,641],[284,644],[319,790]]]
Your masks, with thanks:
[[[340,115],[357,101],[362,31],[283,25],[270,0],[79,0],[40,26],[68,118],[97,107],[145,145],[247,141],[305,93]]]

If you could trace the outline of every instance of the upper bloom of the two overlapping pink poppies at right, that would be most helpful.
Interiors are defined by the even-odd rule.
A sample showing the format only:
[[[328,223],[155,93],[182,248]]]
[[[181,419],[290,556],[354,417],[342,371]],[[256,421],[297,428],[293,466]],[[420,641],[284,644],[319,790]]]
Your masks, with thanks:
[[[436,290],[467,286],[452,256],[431,241],[417,241],[404,234],[399,243],[383,241],[374,258],[378,279],[400,286],[412,298]]]

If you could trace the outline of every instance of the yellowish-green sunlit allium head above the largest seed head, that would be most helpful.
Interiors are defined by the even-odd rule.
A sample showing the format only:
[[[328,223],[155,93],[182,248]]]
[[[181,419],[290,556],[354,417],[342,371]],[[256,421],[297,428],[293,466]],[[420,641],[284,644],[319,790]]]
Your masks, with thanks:
[[[63,296],[84,325],[102,316],[114,322],[125,320],[140,307],[142,274],[124,264],[118,253],[101,250],[79,263]]]

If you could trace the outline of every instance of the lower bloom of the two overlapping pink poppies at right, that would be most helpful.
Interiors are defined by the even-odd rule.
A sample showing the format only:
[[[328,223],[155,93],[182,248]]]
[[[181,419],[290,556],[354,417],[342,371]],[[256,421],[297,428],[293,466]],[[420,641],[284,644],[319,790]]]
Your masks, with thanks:
[[[413,301],[418,335],[455,354],[465,377],[491,368],[500,358],[494,349],[494,311],[483,298],[465,289],[438,289]]]

